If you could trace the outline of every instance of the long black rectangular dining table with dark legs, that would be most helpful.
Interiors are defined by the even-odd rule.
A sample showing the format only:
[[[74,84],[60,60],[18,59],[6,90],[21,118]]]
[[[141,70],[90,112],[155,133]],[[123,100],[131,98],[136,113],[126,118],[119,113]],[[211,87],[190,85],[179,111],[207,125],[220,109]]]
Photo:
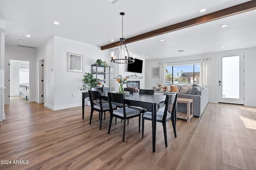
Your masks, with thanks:
[[[111,90],[105,90],[101,92],[103,100],[108,100],[108,92],[113,92]],[[82,92],[82,118],[84,119],[84,100],[89,97],[88,92]],[[139,94],[130,93],[125,95],[126,104],[129,106],[140,106],[146,108],[148,111],[152,112],[152,150],[156,150],[156,112],[159,107],[165,101],[164,95],[154,95],[154,94]]]

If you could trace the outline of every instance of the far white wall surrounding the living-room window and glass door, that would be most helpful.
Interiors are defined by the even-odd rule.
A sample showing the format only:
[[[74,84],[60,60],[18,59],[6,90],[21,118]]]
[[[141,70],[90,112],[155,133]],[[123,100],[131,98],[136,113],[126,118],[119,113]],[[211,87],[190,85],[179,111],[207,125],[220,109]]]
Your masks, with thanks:
[[[224,51],[222,53],[209,53],[202,55],[175,57],[170,59],[157,59],[146,60],[146,72],[151,72],[151,68],[160,66],[159,63],[196,60],[203,58],[211,58],[209,61],[209,75],[208,75],[208,88],[209,88],[209,102],[217,103],[218,98],[218,55],[226,53],[245,52],[244,58],[244,105],[256,107],[256,47],[250,49],[241,49],[236,51]],[[151,78],[151,74],[145,74],[145,88],[152,88],[157,86],[160,78]]]

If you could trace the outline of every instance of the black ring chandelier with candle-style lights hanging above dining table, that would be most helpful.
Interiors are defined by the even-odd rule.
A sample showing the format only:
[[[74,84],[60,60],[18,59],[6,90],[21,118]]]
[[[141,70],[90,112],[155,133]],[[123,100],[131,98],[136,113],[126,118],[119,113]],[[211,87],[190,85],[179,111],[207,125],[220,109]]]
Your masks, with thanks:
[[[125,14],[124,12],[121,12],[120,15],[122,16],[122,38],[120,38],[120,43],[116,49],[116,53],[111,53],[111,62],[122,64],[134,63],[134,59],[130,58],[129,52],[125,44],[125,38],[123,37],[123,16]],[[124,53],[122,53],[122,48],[124,48]]]

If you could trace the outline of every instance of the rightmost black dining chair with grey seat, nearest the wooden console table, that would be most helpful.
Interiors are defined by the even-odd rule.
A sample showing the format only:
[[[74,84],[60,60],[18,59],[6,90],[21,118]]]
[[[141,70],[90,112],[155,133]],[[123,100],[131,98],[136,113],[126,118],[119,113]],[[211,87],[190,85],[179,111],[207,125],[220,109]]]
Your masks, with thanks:
[[[178,93],[173,94],[166,94],[165,98],[165,107],[164,111],[158,111],[156,113],[156,121],[161,122],[164,129],[164,143],[167,147],[167,134],[166,134],[166,122],[171,120],[172,121],[172,127],[174,131],[174,136],[176,135],[176,119],[177,119],[177,96]],[[170,112],[170,106],[172,105],[172,111]],[[144,135],[144,120],[151,120],[152,121],[152,113],[147,111],[142,116],[142,137]]]

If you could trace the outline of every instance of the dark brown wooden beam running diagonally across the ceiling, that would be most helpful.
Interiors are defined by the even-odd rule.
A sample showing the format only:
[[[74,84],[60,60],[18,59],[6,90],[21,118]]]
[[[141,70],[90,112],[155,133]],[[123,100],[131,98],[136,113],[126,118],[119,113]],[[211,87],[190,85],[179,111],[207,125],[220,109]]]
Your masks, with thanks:
[[[204,16],[193,18],[191,20],[183,21],[183,22],[180,22],[180,23],[169,25],[167,27],[163,27],[163,28],[160,28],[160,29],[156,29],[154,31],[150,31],[150,32],[147,32],[147,33],[143,33],[143,34],[128,38],[128,39],[125,40],[125,43],[128,44],[128,43],[132,43],[132,42],[135,42],[135,41],[140,41],[142,39],[147,39],[147,38],[154,37],[154,36],[157,36],[157,35],[162,35],[162,34],[165,34],[165,33],[170,33],[172,31],[177,31],[177,30],[180,30],[180,29],[192,27],[194,25],[199,25],[199,24],[202,24],[202,23],[206,23],[206,22],[210,22],[210,21],[214,21],[214,20],[219,20],[221,18],[233,16],[233,15],[236,15],[236,14],[241,14],[243,12],[248,12],[248,11],[255,10],[255,9],[256,9],[256,0],[251,0],[251,1],[245,2],[243,4],[239,4],[239,5],[236,5],[236,6],[229,7],[229,8],[225,8],[223,10],[212,12],[212,13],[206,14]],[[111,43],[111,44],[108,44],[108,45],[104,45],[104,46],[100,47],[100,49],[101,50],[106,50],[106,49],[110,49],[110,48],[113,48],[113,47],[117,47],[119,45],[119,42],[120,41],[115,42],[115,43]]]

